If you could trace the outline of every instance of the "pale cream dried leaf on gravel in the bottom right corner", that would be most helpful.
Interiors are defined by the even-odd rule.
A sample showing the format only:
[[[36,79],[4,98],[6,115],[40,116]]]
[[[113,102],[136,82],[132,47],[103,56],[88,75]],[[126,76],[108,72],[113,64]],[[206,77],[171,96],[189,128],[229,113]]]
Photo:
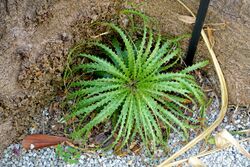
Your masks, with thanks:
[[[250,158],[249,152],[247,152],[247,150],[245,150],[245,148],[243,148],[226,129],[223,129],[215,136],[215,144],[218,148],[224,148],[230,143],[234,145],[243,155]]]

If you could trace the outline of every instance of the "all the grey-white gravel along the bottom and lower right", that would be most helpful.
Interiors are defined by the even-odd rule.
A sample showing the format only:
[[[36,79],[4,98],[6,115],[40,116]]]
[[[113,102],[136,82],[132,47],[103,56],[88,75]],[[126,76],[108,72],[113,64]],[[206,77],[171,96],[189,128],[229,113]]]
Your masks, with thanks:
[[[211,107],[208,109],[208,123],[211,124],[218,115],[219,101],[214,98]],[[222,129],[228,131],[244,130],[250,128],[249,108],[230,106],[227,116],[224,118],[221,125],[213,132],[212,135]],[[195,135],[193,135],[195,137]],[[234,135],[237,139],[242,139],[246,136]],[[248,136],[249,137],[249,136]],[[10,145],[2,154],[0,159],[0,167],[148,167],[156,166],[169,155],[178,151],[183,145],[180,143],[181,138],[175,133],[170,134],[169,139],[169,154],[166,155],[163,150],[158,150],[151,158],[144,151],[139,155],[129,154],[125,157],[119,157],[109,152],[81,153],[80,159],[76,164],[67,164],[62,158],[56,155],[53,147],[43,148],[40,150],[24,150],[20,144]],[[250,142],[246,141],[241,145],[250,152]],[[198,143],[191,150],[187,151],[178,159],[188,158],[192,155],[197,155],[200,152],[203,143]],[[206,145],[207,147],[207,145]],[[177,160],[178,160],[177,159]],[[229,147],[222,151],[204,156],[200,160],[211,167],[250,167],[250,159],[239,153],[235,147]],[[187,166],[187,164],[185,164]]]

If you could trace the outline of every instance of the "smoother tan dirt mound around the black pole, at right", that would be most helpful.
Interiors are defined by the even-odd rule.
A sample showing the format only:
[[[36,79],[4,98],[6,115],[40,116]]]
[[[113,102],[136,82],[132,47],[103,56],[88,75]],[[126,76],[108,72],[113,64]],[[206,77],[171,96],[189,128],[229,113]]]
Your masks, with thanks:
[[[198,0],[183,0],[197,11]],[[142,9],[155,16],[166,33],[183,34],[192,30],[192,25],[181,22],[179,15],[189,15],[184,7],[175,0],[150,0]],[[250,1],[211,0],[205,24],[226,23],[225,29],[215,26],[214,50],[222,66],[229,89],[231,104],[250,104]],[[214,24],[215,25],[215,24]],[[201,41],[197,57],[209,58],[208,51]],[[209,71],[212,77],[213,67]],[[214,87],[219,84],[215,83]]]

